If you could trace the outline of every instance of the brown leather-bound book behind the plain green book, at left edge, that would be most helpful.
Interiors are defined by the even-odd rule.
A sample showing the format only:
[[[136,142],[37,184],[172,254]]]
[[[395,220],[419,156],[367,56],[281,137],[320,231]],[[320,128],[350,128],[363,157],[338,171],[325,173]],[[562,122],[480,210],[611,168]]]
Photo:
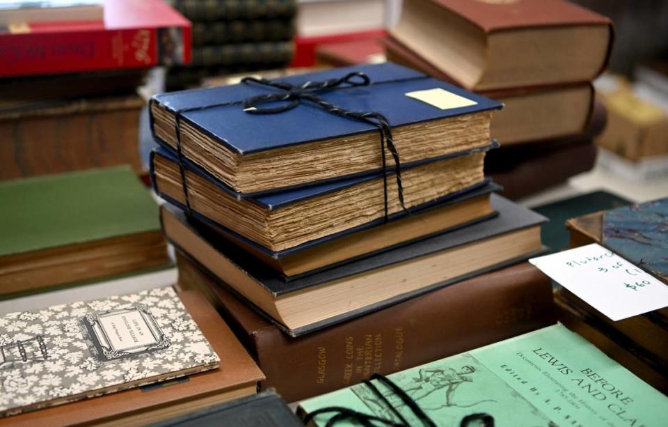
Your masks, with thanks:
[[[0,107],[0,180],[129,164],[141,173],[137,95]]]

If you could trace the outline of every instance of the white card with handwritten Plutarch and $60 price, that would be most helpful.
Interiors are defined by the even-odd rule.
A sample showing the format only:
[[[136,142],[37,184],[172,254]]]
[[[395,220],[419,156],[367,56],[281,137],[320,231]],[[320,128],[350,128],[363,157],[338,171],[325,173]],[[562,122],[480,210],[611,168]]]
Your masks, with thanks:
[[[668,306],[668,285],[596,243],[529,262],[614,321]]]

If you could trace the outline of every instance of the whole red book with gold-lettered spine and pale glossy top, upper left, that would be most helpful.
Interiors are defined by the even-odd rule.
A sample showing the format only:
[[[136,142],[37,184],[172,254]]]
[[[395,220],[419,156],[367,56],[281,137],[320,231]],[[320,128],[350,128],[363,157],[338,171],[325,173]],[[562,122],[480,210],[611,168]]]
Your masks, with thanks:
[[[189,63],[191,24],[162,0],[106,0],[104,20],[0,29],[0,77]]]

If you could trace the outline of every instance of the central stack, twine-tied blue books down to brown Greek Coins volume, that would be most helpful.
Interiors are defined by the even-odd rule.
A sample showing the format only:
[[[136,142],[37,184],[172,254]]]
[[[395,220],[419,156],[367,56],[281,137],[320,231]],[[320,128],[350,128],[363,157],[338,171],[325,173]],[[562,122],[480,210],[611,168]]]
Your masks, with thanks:
[[[388,128],[373,121],[306,100],[253,114],[265,107],[253,100],[277,93],[257,81],[157,95],[150,108],[161,144],[152,181],[169,202],[161,222],[182,255],[182,286],[200,288],[226,313],[260,359],[263,386],[289,401],[550,322],[550,286],[532,267],[446,288],[543,251],[544,218],[493,194],[498,186],[483,173],[500,104],[392,63],[280,84],[351,72],[368,84],[303,96],[339,113],[382,114],[399,161],[381,146]],[[488,298],[493,279],[498,300]],[[472,305],[485,316],[454,316]],[[288,378],[276,354],[290,354],[309,378]]]

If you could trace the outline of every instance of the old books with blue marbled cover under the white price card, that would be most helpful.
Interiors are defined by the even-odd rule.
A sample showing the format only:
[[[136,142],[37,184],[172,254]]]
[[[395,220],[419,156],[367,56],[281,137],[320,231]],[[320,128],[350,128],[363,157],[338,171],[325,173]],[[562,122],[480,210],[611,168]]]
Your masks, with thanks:
[[[668,199],[660,199],[569,219],[566,226],[571,247],[603,244],[668,284],[667,219]],[[565,288],[557,290],[555,301],[565,325],[649,384],[668,391],[668,309],[614,322]]]

